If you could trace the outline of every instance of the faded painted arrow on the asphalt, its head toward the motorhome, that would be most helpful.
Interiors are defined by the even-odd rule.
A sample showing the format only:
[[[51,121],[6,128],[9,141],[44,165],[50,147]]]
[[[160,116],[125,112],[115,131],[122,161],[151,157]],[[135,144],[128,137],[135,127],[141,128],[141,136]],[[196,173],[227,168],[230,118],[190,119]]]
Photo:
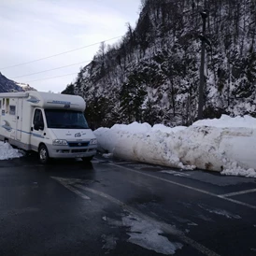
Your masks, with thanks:
[[[121,206],[123,209],[128,210],[129,212],[133,213],[134,215],[138,216],[139,218],[149,221],[152,225],[161,229],[165,233],[178,236],[178,238],[182,242],[188,244],[189,246],[191,246],[194,249],[197,249],[198,251],[200,251],[201,253],[203,253],[207,256],[219,256],[219,254],[217,254],[213,250],[207,249],[205,246],[197,243],[196,241],[192,240],[192,238],[186,236],[183,232],[178,231],[178,229],[176,229],[174,226],[164,223],[164,222],[161,222],[159,220],[155,220],[155,219],[149,217],[148,215],[145,215],[142,212],[136,210],[134,207],[128,206],[125,203],[121,202],[120,200],[112,197],[111,195],[108,195],[105,192],[99,192],[99,191],[93,190],[91,188],[87,188],[81,184],[76,184],[76,182],[78,182],[78,179],[76,179],[76,178],[75,179],[74,178],[58,178],[58,177],[51,177],[51,178],[54,178],[55,180],[59,181],[62,185],[64,185],[65,188],[68,188],[68,189],[70,189],[69,187],[72,184],[73,187],[72,187],[72,190],[70,190],[70,191],[75,192],[76,194],[78,194],[78,196],[80,196],[83,199],[85,199],[84,196],[86,196],[86,195],[84,195],[82,192],[79,192],[78,190],[76,190],[76,188],[86,191],[86,192],[91,192],[93,194],[96,194],[98,196],[101,196],[101,197],[107,199],[108,201],[110,201],[113,204]],[[82,183],[82,181],[83,180],[80,179],[79,183]],[[88,197],[88,196],[86,196],[86,197]]]

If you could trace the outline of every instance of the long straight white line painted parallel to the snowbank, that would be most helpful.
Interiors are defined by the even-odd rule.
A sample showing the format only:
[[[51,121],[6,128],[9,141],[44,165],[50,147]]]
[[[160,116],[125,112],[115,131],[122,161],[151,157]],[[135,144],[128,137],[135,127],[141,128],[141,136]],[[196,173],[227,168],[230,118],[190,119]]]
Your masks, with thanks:
[[[149,177],[149,178],[156,178],[156,179],[158,179],[158,180],[162,180],[162,181],[164,181],[164,182],[167,182],[167,183],[170,183],[170,184],[173,184],[173,185],[177,185],[177,186],[179,186],[179,187],[186,188],[186,189],[189,189],[189,190],[192,190],[192,191],[195,191],[195,192],[202,192],[202,193],[205,193],[205,194],[207,194],[207,195],[211,195],[211,196],[214,196],[214,197],[218,197],[218,198],[220,198],[220,199],[223,199],[223,200],[226,200],[226,201],[235,203],[235,204],[237,204],[237,205],[247,206],[247,207],[249,207],[249,208],[251,208],[251,209],[256,209],[256,206],[252,206],[252,205],[249,205],[249,204],[244,203],[244,202],[241,202],[241,201],[237,201],[237,200],[232,199],[232,198],[227,198],[227,197],[224,197],[224,196],[222,196],[222,195],[219,195],[219,194],[216,194],[216,193],[213,193],[213,192],[206,192],[206,191],[201,190],[201,189],[197,189],[197,188],[194,188],[194,187],[191,187],[191,186],[187,186],[187,185],[184,185],[184,184],[182,184],[182,183],[178,183],[178,182],[175,182],[175,181],[166,179],[166,178],[156,177],[156,176],[153,176],[153,175],[150,175],[150,174],[147,174],[147,173],[143,173],[143,172],[140,172],[140,171],[137,171],[137,170],[134,170],[134,169],[131,169],[131,168],[129,168],[129,167],[122,166],[122,165],[113,164],[113,163],[108,163],[108,164],[114,165],[114,166],[116,166],[116,167],[120,167],[120,168],[125,169],[125,170],[128,170],[128,171],[132,171],[132,172],[134,172],[134,173],[137,173],[137,174],[140,174],[140,175]]]

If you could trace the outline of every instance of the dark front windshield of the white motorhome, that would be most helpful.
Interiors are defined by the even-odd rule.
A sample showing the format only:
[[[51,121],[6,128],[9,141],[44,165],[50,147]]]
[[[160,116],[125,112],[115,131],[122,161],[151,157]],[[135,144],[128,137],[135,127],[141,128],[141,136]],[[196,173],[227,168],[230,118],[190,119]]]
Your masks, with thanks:
[[[48,128],[89,129],[82,112],[65,109],[45,109]]]

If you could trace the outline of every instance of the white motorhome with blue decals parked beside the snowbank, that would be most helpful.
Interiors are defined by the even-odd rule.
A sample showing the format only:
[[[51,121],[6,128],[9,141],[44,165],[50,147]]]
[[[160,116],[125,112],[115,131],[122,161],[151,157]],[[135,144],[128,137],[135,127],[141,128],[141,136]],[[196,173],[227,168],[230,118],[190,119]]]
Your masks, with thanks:
[[[97,140],[83,115],[77,95],[51,92],[0,93],[0,139],[38,152],[42,164],[50,158],[92,160]]]

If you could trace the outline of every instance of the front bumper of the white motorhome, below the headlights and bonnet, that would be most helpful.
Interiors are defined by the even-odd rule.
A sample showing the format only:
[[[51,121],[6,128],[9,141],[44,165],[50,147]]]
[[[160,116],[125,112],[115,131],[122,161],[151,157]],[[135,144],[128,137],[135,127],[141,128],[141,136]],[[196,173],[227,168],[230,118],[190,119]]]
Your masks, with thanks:
[[[52,158],[79,158],[90,157],[96,154],[97,145],[89,147],[69,147],[50,145],[49,155]]]

